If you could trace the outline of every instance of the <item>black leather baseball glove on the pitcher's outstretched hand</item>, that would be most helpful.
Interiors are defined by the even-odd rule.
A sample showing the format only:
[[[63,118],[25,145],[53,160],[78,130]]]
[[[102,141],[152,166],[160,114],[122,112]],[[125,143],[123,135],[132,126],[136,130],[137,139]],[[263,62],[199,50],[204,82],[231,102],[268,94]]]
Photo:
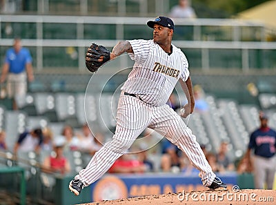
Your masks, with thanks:
[[[102,61],[98,61],[102,59]],[[92,43],[90,48],[86,52],[86,68],[90,72],[96,72],[99,67],[105,64],[110,60],[110,51],[107,50],[104,46],[99,46],[95,43]]]

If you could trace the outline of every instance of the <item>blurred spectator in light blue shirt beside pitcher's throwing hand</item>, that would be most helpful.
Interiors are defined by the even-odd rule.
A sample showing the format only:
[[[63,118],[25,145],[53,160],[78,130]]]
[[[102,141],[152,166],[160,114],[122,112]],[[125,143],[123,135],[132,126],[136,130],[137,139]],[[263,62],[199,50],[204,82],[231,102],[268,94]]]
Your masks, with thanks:
[[[209,106],[204,99],[204,90],[199,85],[195,85],[193,88],[195,97],[195,111],[204,113],[209,110]]]

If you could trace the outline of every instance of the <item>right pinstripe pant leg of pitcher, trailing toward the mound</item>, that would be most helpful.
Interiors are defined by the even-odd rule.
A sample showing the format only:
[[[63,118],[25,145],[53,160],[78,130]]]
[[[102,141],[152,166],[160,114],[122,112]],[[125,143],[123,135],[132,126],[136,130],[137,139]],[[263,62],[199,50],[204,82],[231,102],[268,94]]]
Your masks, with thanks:
[[[177,113],[168,105],[155,107],[152,112],[153,120],[150,127],[154,128],[158,133],[164,135],[179,149],[184,151],[190,163],[199,171],[204,186],[209,186],[215,179],[210,165],[208,164],[204,153],[196,141],[195,135]]]

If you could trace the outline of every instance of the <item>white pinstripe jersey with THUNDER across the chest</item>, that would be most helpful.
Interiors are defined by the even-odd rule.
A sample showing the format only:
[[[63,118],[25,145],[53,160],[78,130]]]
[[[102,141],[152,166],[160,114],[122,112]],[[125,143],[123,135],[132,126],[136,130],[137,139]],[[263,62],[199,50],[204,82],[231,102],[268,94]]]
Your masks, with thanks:
[[[148,104],[162,106],[166,104],[179,78],[188,79],[188,61],[183,52],[172,45],[172,54],[168,55],[153,40],[131,40],[135,61],[121,90],[137,94]]]

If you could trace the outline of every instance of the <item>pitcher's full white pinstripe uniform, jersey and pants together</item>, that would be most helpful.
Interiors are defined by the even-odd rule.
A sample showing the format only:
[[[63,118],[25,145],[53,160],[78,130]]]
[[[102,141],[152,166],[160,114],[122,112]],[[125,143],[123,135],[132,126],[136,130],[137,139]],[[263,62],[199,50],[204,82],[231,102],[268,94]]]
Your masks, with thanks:
[[[76,175],[84,186],[101,177],[117,158],[123,155],[133,141],[145,130],[153,128],[167,137],[188,156],[191,164],[199,169],[204,186],[210,186],[215,179],[204,153],[190,128],[166,101],[177,81],[186,81],[190,72],[188,61],[175,46],[168,55],[152,40],[130,41],[135,65],[121,88],[117,108],[117,126],[112,141],[107,142],[90,160],[88,166]],[[124,92],[139,95],[132,97]]]

